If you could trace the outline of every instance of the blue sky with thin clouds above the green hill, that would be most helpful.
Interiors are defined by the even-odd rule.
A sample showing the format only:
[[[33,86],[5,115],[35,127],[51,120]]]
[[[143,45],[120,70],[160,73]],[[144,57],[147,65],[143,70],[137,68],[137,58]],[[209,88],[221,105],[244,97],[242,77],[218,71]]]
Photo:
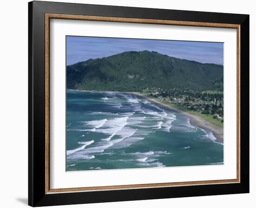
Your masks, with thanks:
[[[223,65],[223,43],[75,36],[67,36],[67,65],[131,50]]]

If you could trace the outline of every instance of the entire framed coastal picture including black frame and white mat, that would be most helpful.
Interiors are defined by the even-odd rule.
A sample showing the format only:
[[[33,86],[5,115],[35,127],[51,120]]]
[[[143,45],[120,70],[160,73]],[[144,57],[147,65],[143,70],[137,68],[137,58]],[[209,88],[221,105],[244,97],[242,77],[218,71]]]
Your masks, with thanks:
[[[249,193],[249,15],[28,11],[30,206]]]

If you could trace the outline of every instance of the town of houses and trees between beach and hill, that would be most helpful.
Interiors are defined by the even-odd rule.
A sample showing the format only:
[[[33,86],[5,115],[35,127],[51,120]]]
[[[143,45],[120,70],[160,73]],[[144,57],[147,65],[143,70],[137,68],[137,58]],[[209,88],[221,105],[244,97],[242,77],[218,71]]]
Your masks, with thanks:
[[[196,91],[192,89],[147,88],[143,95],[189,112],[208,115],[223,122],[223,92]]]

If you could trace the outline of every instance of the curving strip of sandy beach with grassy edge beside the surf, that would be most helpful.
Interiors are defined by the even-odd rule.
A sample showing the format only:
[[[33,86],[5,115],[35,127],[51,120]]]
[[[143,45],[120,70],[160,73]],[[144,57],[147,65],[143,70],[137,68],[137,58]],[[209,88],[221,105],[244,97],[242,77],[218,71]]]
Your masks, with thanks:
[[[133,95],[136,95],[138,98],[142,98],[142,99],[145,99],[147,101],[150,101],[150,102],[154,103],[155,105],[157,105],[159,107],[162,107],[164,109],[167,109],[167,110],[170,110],[170,111],[173,111],[173,112],[176,112],[176,113],[182,113],[183,115],[186,115],[186,116],[189,117],[191,125],[198,126],[202,129],[206,129],[206,130],[211,131],[213,133],[213,135],[216,137],[216,140],[223,144],[223,127],[214,126],[214,125],[210,124],[208,121],[202,119],[201,117],[199,117],[197,115],[190,114],[188,112],[182,111],[182,110],[177,109],[175,107],[169,106],[169,105],[164,104],[164,103],[159,102],[159,101],[156,101],[153,98],[149,98],[145,95],[141,95],[140,93],[137,93],[137,92],[120,92],[120,93],[133,94]]]

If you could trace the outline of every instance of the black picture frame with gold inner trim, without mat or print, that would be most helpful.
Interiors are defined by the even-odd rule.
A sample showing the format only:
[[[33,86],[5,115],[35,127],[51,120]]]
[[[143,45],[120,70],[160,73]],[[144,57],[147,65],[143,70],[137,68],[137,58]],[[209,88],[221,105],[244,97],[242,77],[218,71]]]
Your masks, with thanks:
[[[28,204],[50,206],[249,193],[249,15],[58,2],[28,3]],[[235,28],[236,179],[50,189],[50,19]]]

